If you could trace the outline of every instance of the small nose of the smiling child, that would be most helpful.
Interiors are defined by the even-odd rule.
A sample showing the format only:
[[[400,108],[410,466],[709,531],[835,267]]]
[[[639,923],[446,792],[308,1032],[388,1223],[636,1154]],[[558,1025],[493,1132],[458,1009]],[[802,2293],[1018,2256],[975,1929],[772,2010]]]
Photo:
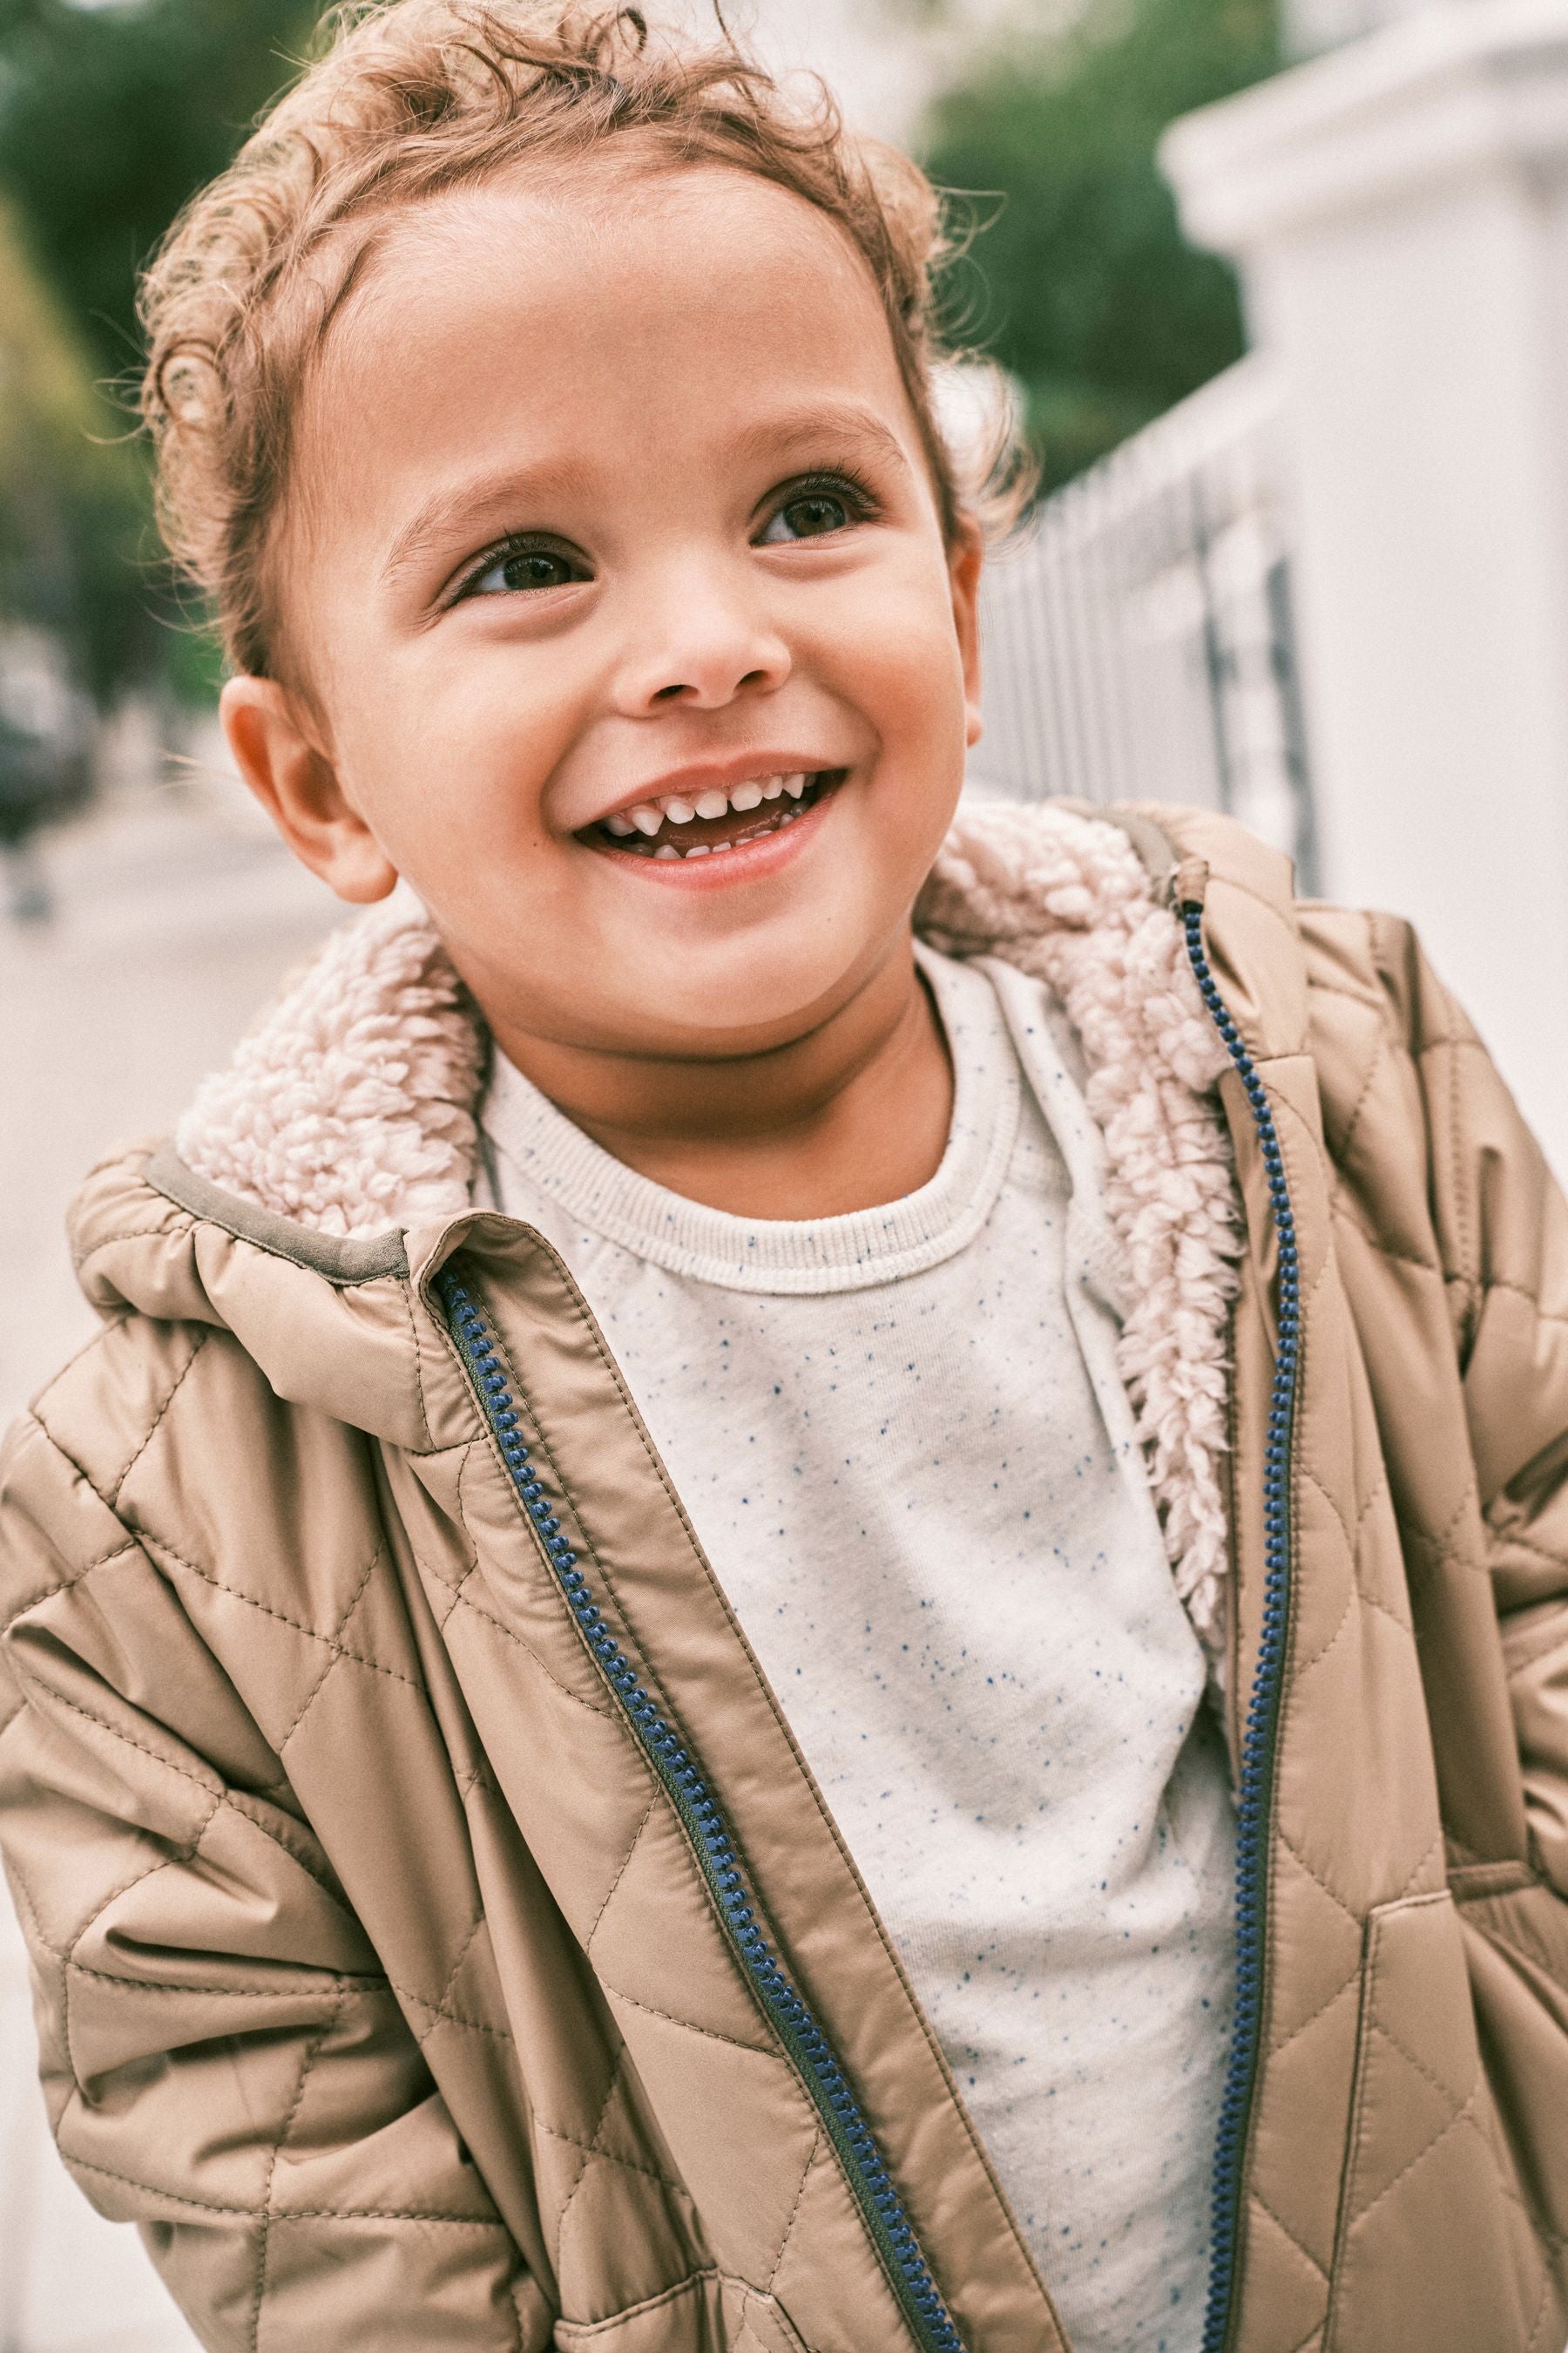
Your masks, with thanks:
[[[639,598],[616,704],[646,718],[670,704],[719,711],[741,694],[773,694],[790,675],[790,647],[748,595],[750,584],[684,567]]]

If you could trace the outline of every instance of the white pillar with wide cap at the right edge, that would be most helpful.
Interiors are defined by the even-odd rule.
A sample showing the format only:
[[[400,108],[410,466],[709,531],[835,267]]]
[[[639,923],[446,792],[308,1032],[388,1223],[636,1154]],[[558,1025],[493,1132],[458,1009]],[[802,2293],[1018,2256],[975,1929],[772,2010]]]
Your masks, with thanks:
[[[1568,1176],[1568,0],[1166,134],[1286,384],[1324,887],[1415,918]]]

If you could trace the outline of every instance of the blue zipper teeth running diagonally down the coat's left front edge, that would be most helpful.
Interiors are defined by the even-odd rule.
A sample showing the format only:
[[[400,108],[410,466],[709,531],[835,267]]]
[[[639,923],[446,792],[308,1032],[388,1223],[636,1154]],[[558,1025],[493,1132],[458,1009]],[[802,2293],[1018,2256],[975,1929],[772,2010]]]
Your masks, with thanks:
[[[719,1911],[724,1934],[741,1958],[752,1986],[762,1995],[769,2019],[780,2042],[790,2052],[823,2127],[844,2165],[849,2186],[860,2207],[872,2245],[889,2275],[898,2306],[910,2322],[922,2353],[964,2353],[964,2339],[954,2329],[947,2306],[931,2278],[931,2266],[919,2252],[914,2231],[893,2188],[893,2177],[877,2148],[870,2125],[849,2087],[844,2068],[832,2054],[827,2035],[795,1991],[778,1965],[766,1937],[757,1927],[750,1887],[741,1871],[724,1817],[712,1798],[708,1779],[696,1760],[682,1748],[675,1729],[663,1720],[654,1699],[637,1680],[630,1659],[609,1633],[592,1598],[592,1586],[578,1567],[578,1555],[562,1534],[562,1525],[550,1508],[538,1473],[522,1442],[517,1407],[508,1388],[501,1358],[489,1337],[489,1325],[473,1294],[456,1273],[437,1275],[435,1289],[447,1311],[458,1355],[475,1384],[484,1419],[489,1421],[512,1487],[522,1499],[538,1541],[545,1548],[550,1569],[567,1598],[567,1607],[583,1628],[583,1638],[599,1661],[604,1680],[628,1715],[654,1772],[675,1802],[696,1852],[698,1868]]]

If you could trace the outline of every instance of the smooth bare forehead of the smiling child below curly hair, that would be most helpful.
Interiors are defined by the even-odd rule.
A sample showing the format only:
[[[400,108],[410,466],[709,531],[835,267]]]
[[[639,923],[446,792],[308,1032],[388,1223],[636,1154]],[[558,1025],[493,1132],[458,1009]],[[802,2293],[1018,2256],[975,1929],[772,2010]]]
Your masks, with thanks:
[[[306,400],[301,454],[421,487],[447,461],[614,456],[748,431],[769,407],[917,424],[865,259],[741,169],[569,165],[390,214]],[[317,473],[313,504],[329,475]]]

